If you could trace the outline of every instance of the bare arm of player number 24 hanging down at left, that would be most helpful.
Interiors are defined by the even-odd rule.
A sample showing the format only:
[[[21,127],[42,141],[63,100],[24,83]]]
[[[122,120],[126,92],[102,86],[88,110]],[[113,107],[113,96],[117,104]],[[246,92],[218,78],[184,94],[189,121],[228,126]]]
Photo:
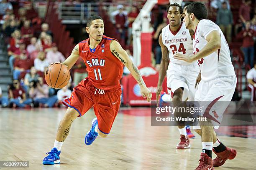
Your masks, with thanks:
[[[159,35],[158,42],[159,42],[159,45],[161,46],[162,60],[160,64],[159,77],[158,77],[157,90],[156,90],[156,103],[158,103],[159,95],[163,89],[162,84],[164,81],[164,77],[166,76],[166,70],[168,69],[168,65],[169,65],[168,49],[163,44],[162,33]]]

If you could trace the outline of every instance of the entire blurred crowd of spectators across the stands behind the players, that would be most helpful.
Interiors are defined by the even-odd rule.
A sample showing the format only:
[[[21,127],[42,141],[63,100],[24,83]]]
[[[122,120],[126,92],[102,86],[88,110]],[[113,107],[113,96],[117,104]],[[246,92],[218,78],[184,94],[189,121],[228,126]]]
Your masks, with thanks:
[[[61,96],[69,96],[70,90],[80,80],[87,76],[84,72],[84,62],[81,58],[74,66],[74,82],[59,91],[49,88],[44,80],[44,71],[52,62],[65,60],[65,56],[58,51],[58,45],[54,43],[54,35],[49,25],[38,15],[31,15],[26,7],[19,7],[14,14],[13,2],[2,0],[0,3],[1,32],[5,35],[8,44],[8,60],[10,70],[13,73],[13,83],[8,87],[8,98],[0,100],[4,107],[53,107]],[[23,1],[20,1],[23,2]],[[26,1],[24,1],[26,2]],[[72,3],[83,2],[70,0]],[[94,2],[93,0],[91,2]],[[103,2],[103,1],[101,1]],[[105,2],[105,1],[104,1]],[[109,0],[108,2],[111,2]],[[211,0],[208,6],[208,17],[217,23],[226,37],[232,49],[233,43],[238,43],[243,54],[243,67],[253,68],[255,60],[255,36],[256,36],[256,7],[253,8],[251,0],[243,0],[237,6],[236,2],[229,0]],[[132,23],[143,7],[145,0],[138,0],[136,4],[123,6],[114,3],[110,15],[110,21],[120,34],[120,44],[127,49],[132,58]],[[185,5],[187,1],[183,2]],[[17,4],[16,4],[17,5]],[[20,5],[20,4],[19,4]],[[161,62],[161,48],[158,37],[169,22],[166,18],[166,5],[155,5],[151,11],[150,30],[153,37],[152,65],[159,70]],[[235,46],[237,47],[237,46]],[[65,54],[66,55],[66,54]],[[129,74],[124,68],[124,74]],[[58,96],[59,93],[59,96]]]

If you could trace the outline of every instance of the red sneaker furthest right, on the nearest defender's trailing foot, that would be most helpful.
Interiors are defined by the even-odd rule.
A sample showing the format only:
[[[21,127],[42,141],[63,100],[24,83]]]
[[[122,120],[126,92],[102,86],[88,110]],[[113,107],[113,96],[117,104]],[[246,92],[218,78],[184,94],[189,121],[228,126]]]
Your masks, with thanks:
[[[233,148],[226,147],[226,150],[220,153],[216,153],[213,148],[212,151],[217,155],[217,157],[213,159],[213,166],[215,167],[219,167],[223,165],[226,160],[232,160],[236,157],[236,150]]]

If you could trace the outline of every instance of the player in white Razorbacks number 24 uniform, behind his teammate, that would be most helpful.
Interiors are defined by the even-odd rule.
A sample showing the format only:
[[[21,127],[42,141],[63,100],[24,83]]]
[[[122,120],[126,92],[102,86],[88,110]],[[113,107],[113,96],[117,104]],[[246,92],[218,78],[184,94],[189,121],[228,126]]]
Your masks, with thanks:
[[[157,85],[157,102],[162,90],[162,83],[165,75],[167,76],[167,87],[169,94],[172,94],[169,99],[174,105],[179,105],[181,101],[194,101],[195,84],[197,76],[200,72],[196,62],[185,62],[175,60],[174,54],[181,53],[192,55],[193,53],[193,31],[189,31],[182,22],[183,9],[177,4],[171,4],[167,7],[167,18],[169,24],[163,28],[159,35],[159,44],[162,51],[162,60],[159,71],[159,80]],[[186,94],[187,95],[186,95]],[[161,96],[162,97],[162,96]],[[163,100],[162,98],[160,100]],[[179,112],[174,112],[174,116],[180,116]],[[177,122],[180,133],[180,142],[177,144],[177,149],[190,148],[189,138],[184,122]]]

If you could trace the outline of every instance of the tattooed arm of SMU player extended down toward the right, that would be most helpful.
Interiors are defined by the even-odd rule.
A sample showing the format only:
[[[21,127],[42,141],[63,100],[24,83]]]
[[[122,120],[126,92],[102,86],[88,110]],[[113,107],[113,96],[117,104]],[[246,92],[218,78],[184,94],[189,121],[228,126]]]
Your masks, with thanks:
[[[143,81],[138,68],[136,67],[136,65],[134,65],[133,61],[128,56],[126,51],[123,50],[119,42],[115,40],[111,41],[110,50],[113,55],[115,55],[115,57],[117,57],[128,68],[128,70],[131,72],[131,75],[135,78],[135,80],[141,87],[141,95],[144,98],[147,98],[147,101],[149,102],[151,100],[152,94],[150,90],[146,87],[146,84]]]

